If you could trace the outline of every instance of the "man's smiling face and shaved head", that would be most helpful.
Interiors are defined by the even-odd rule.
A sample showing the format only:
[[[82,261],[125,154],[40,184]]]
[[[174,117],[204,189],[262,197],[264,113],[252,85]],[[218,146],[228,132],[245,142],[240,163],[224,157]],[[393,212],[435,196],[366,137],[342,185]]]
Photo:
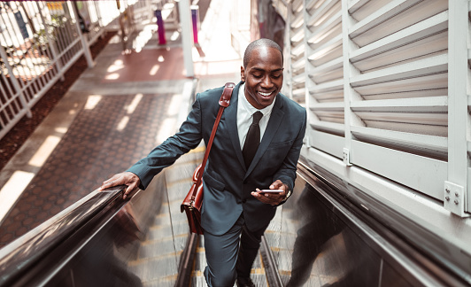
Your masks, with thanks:
[[[282,89],[282,53],[271,47],[259,46],[251,51],[245,68],[241,66],[245,81],[245,98],[257,109],[271,105]]]

